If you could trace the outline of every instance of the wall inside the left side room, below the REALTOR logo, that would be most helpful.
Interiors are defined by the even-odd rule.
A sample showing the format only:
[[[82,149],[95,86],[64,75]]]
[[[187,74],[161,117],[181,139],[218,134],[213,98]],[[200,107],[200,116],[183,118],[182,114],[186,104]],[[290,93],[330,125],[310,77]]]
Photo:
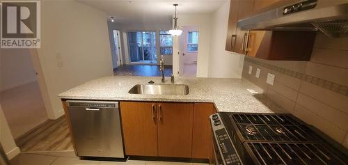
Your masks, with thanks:
[[[28,49],[0,49],[0,92],[36,80]]]

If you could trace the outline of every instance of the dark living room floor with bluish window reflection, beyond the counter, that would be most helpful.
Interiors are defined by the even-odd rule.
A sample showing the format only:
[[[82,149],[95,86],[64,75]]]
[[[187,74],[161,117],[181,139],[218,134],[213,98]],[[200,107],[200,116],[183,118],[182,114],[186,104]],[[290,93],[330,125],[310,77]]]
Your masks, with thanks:
[[[172,65],[164,66],[164,75],[170,77],[173,73]],[[159,65],[121,65],[113,69],[114,75],[120,76],[145,76],[145,77],[159,77],[161,71]]]

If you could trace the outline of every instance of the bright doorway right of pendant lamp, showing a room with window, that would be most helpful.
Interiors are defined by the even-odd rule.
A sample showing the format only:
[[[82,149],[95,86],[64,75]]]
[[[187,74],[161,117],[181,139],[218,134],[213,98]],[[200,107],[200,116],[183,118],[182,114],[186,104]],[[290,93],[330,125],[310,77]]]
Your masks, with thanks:
[[[196,77],[198,56],[198,26],[182,26],[179,37],[179,73],[180,77]]]

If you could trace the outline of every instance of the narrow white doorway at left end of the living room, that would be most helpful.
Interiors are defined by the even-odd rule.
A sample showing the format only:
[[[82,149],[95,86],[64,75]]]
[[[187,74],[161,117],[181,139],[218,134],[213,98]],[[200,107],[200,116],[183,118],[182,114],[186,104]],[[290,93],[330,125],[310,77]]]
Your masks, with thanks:
[[[113,30],[113,44],[114,44],[114,50],[112,56],[112,64],[113,69],[118,68],[120,65],[122,65],[122,50],[121,50],[121,42],[120,42],[120,31]]]

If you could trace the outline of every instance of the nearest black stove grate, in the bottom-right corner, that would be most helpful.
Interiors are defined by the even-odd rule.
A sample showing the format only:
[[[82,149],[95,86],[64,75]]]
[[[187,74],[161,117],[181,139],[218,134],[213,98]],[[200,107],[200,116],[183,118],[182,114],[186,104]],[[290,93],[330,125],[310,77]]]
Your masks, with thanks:
[[[258,143],[246,142],[258,164],[345,164],[320,143]]]

